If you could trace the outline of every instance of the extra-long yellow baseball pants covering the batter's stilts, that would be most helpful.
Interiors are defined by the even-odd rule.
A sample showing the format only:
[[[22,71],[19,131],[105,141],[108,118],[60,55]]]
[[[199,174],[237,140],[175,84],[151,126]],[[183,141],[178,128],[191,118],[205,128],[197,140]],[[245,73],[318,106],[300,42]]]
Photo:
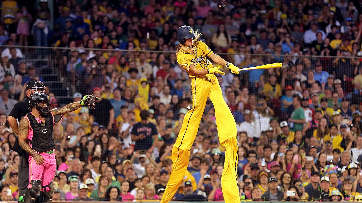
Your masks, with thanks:
[[[168,203],[178,190],[189,164],[190,148],[195,141],[207,97],[215,107],[220,144],[226,148],[222,174],[222,191],[226,203],[240,203],[236,166],[237,140],[235,120],[227,106],[214,74],[192,78],[192,103],[182,122],[180,133],[172,150],[172,172],[161,203]]]

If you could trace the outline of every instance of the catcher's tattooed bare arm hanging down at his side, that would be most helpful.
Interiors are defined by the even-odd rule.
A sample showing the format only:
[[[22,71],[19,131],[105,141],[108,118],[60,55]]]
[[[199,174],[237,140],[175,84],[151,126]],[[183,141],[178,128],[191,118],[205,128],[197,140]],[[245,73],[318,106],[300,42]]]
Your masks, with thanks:
[[[28,152],[30,156],[34,157],[34,160],[37,163],[37,165],[42,165],[45,163],[44,158],[29,146],[28,134],[29,134],[28,119],[21,118],[21,120],[19,122],[19,128],[18,128],[19,145],[26,152]]]

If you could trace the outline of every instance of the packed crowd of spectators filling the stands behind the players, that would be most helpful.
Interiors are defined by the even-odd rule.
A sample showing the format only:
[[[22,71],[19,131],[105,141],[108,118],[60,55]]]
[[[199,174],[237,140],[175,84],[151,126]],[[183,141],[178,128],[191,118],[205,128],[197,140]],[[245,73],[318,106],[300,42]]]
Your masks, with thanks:
[[[1,200],[18,199],[7,116],[30,79],[44,81],[34,56],[70,83],[74,102],[101,98],[54,126],[53,201],[161,199],[192,108],[174,55],[182,25],[240,68],[283,63],[217,75],[237,124],[241,200],[362,199],[361,1],[66,0],[52,2],[54,13],[47,0],[36,5],[1,2]],[[59,107],[57,89],[46,94]],[[175,200],[223,200],[216,119],[208,101]]]

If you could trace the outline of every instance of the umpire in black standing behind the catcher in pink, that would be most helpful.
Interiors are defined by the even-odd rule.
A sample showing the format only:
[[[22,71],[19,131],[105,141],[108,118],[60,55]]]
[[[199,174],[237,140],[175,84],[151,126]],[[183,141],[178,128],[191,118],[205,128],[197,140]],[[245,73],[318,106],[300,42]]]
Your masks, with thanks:
[[[18,121],[21,120],[27,113],[30,112],[29,109],[29,97],[34,94],[34,92],[45,92],[45,85],[43,82],[38,81],[36,79],[31,79],[26,84],[26,96],[17,104],[14,105],[14,108],[11,110],[8,116],[8,122],[10,127],[13,129],[14,133],[18,133]],[[17,119],[17,120],[16,120]],[[9,143],[10,146],[10,143]],[[24,151],[18,142],[18,138],[16,138],[16,142],[13,146],[10,146],[13,151],[16,151],[20,157],[19,164],[19,202],[24,202],[24,194],[28,189],[29,184],[29,154]]]

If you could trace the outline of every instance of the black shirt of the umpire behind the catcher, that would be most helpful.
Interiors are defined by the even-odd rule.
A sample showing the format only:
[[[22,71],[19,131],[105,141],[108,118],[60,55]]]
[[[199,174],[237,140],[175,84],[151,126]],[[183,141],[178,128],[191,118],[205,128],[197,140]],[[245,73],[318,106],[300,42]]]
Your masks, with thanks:
[[[21,120],[22,117],[24,117],[27,113],[30,112],[29,109],[29,97],[25,96],[23,100],[16,103],[14,105],[14,108],[11,110],[9,116],[12,116],[16,118],[18,121]],[[10,146],[10,145],[9,145]],[[11,148],[11,146],[10,146]],[[29,154],[28,152],[24,151],[23,148],[19,146],[18,138],[16,138],[16,142],[14,143],[14,146],[11,148],[13,151],[16,151],[20,156],[23,156],[28,160]]]

